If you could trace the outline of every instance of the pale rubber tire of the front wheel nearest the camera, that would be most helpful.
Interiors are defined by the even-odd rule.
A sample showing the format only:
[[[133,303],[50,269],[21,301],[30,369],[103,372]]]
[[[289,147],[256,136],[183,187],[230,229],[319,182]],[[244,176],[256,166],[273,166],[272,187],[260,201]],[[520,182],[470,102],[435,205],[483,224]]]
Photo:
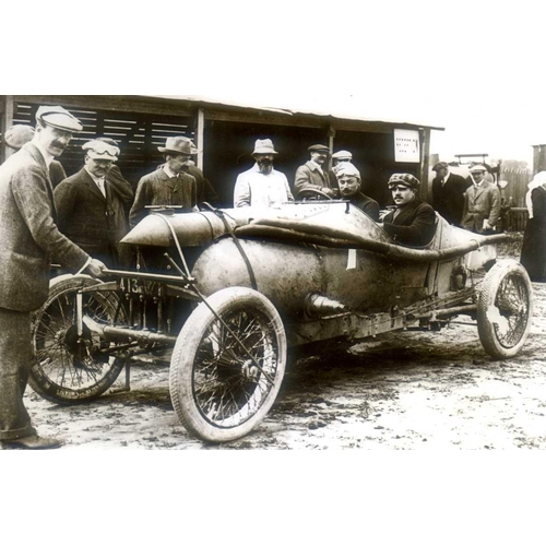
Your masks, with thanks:
[[[275,402],[286,367],[286,334],[277,310],[259,292],[239,286],[229,287],[216,292],[206,301],[221,317],[238,309],[258,310],[272,324],[274,343],[277,347],[276,373],[265,400],[248,420],[230,428],[221,428],[203,417],[193,396],[195,355],[207,328],[215,321],[215,316],[205,304],[201,302],[180,331],[173,351],[169,377],[170,397],[175,412],[186,429],[193,436],[204,441],[225,442],[241,438],[252,430]]]

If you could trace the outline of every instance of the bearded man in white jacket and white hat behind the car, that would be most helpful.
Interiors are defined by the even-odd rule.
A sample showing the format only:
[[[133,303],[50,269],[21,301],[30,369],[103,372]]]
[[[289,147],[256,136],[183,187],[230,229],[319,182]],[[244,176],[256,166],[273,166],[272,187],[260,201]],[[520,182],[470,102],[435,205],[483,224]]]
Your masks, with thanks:
[[[237,177],[234,190],[234,206],[278,206],[294,201],[288,180],[273,168],[275,155],[271,139],[258,139],[252,157],[252,168]]]

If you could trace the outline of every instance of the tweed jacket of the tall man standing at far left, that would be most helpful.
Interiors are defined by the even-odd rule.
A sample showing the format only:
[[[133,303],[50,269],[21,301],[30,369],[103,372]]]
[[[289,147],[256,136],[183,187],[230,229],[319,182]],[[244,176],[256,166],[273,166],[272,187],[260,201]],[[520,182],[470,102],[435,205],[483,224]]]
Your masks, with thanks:
[[[31,142],[0,167],[0,307],[33,311],[47,299],[51,259],[71,270],[88,256],[56,224],[49,169]]]

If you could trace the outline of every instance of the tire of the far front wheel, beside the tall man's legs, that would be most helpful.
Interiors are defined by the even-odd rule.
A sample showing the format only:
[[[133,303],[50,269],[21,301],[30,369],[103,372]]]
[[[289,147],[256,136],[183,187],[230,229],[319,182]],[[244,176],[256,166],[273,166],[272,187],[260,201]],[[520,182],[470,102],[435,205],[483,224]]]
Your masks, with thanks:
[[[33,348],[36,354],[37,340],[36,334],[39,330],[39,321],[43,313],[49,306],[55,304],[56,299],[70,292],[76,292],[82,287],[95,286],[103,284],[97,278],[92,278],[88,275],[61,275],[51,280],[49,285],[49,296],[46,302],[34,313],[32,340]],[[118,297],[114,293],[107,293],[112,297]],[[33,361],[28,375],[28,383],[45,400],[61,405],[71,405],[90,402],[97,399],[100,394],[105,393],[116,381],[119,373],[123,369],[124,361],[121,358],[114,358],[110,364],[110,369],[94,384],[85,389],[69,389],[63,385],[57,384],[51,378],[47,376],[44,369],[39,366],[38,359]]]

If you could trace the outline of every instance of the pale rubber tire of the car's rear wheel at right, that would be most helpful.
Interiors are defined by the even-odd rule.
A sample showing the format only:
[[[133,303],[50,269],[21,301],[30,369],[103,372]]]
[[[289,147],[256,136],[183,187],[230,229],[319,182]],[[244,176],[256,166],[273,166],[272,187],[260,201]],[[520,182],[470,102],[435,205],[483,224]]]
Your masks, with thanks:
[[[518,343],[507,347],[497,335],[496,323],[488,318],[488,311],[497,308],[496,299],[501,283],[508,277],[514,276],[521,281],[520,286],[526,292],[527,305],[525,312],[525,328]],[[525,269],[515,260],[498,261],[487,273],[479,288],[477,305],[477,327],[482,345],[487,354],[494,359],[503,359],[515,356],[522,348],[531,330],[531,318],[533,316],[533,287]]]

